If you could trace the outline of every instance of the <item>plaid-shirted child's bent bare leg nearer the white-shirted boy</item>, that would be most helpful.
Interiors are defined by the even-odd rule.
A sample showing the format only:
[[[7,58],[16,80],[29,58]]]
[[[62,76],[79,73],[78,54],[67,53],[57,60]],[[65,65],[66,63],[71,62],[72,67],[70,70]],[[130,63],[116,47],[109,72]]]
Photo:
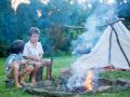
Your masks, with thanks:
[[[32,66],[28,66],[25,68],[25,72],[24,74],[21,77],[21,84],[25,84],[25,78],[27,77],[27,74],[29,74],[32,70],[34,70],[34,67]]]

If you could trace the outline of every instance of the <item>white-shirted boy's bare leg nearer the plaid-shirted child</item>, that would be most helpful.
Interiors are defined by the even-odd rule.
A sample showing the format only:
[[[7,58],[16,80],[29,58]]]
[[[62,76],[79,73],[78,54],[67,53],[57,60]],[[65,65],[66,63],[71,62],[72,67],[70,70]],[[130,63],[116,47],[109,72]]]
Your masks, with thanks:
[[[34,68],[34,71],[32,71],[32,77],[31,77],[31,82],[32,83],[36,83],[37,72],[38,72],[38,69],[40,67],[41,67],[41,63],[35,63],[35,68]]]

